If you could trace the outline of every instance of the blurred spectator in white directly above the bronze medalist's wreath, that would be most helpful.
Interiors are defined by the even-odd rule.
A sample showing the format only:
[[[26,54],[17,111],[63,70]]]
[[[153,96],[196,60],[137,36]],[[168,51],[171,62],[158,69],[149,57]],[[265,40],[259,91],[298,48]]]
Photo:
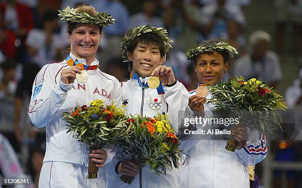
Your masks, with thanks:
[[[216,3],[206,4],[201,8],[200,13],[208,39],[227,39],[228,21],[237,23],[240,33],[243,33],[246,25],[246,19],[240,6],[229,4],[227,0],[217,0]]]

